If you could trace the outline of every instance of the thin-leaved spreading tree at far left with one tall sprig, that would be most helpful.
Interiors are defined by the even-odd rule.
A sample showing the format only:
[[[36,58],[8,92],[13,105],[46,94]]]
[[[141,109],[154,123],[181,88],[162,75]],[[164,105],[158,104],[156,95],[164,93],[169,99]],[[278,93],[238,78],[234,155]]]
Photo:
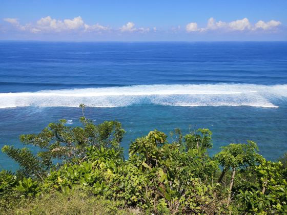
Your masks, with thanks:
[[[83,117],[82,126],[67,126],[66,120],[50,123],[38,134],[21,135],[20,141],[25,145],[34,145],[40,151],[33,155],[27,148],[15,149],[4,146],[3,152],[20,164],[25,177],[38,177],[45,170],[54,166],[54,161],[76,163],[86,159],[89,146],[109,147],[120,150],[120,142],[125,131],[118,121],[105,121],[94,124],[84,115],[84,104],[80,104]]]

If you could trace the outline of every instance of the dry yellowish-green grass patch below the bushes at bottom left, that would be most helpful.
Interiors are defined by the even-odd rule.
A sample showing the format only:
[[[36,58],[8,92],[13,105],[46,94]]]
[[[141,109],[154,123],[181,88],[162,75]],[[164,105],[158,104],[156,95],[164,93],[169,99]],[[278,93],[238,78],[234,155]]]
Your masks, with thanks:
[[[53,192],[37,198],[15,199],[0,208],[1,214],[141,214],[125,206],[124,201],[105,200],[81,190],[65,194]]]

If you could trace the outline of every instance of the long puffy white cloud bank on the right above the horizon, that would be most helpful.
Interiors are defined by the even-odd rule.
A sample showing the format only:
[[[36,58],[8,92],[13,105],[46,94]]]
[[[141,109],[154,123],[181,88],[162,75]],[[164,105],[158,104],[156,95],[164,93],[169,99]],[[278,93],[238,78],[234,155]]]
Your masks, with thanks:
[[[257,29],[263,29],[263,30],[270,30],[274,29],[281,25],[279,21],[271,20],[268,23],[265,23],[263,21],[257,22],[254,27],[249,22],[248,18],[243,19],[237,19],[235,21],[232,21],[230,23],[218,21],[211,17],[208,19],[207,26],[205,28],[198,28],[197,23],[189,23],[186,26],[187,32],[196,32],[196,31],[208,31],[208,30],[217,30],[217,29],[223,29],[227,31],[254,31]]]

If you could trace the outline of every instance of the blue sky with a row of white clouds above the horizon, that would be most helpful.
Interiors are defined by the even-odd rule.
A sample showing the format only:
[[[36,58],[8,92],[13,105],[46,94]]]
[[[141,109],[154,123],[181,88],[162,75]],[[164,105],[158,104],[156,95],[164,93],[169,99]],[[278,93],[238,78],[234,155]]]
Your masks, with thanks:
[[[286,0],[1,0],[0,40],[285,41]]]

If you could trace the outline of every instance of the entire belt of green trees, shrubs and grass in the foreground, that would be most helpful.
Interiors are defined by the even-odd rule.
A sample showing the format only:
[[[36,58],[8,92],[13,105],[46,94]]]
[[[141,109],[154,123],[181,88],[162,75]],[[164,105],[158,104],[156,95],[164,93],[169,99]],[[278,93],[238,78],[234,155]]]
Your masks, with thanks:
[[[0,213],[287,213],[286,154],[283,164],[266,161],[248,141],[211,157],[211,131],[183,136],[176,128],[171,143],[157,130],[137,138],[125,160],[121,124],[96,125],[80,107],[82,126],[60,120],[39,134],[20,136],[39,148],[36,155],[28,148],[2,148],[20,168],[0,172]]]

